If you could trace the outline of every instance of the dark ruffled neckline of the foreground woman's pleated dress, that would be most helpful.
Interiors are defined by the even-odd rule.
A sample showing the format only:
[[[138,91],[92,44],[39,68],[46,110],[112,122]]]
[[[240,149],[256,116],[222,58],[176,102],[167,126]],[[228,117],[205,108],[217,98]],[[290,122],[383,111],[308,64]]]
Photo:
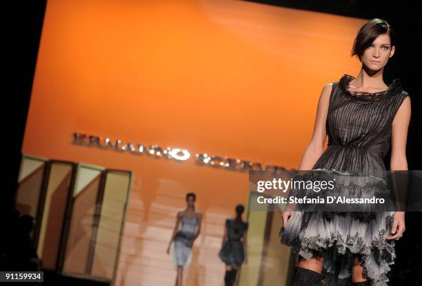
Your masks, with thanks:
[[[354,80],[355,77],[350,74],[343,74],[339,81],[341,90],[350,96],[359,98],[359,99],[384,99],[396,94],[399,90],[402,89],[401,82],[399,78],[396,78],[390,83],[386,90],[381,90],[381,92],[351,92],[349,90],[350,81]]]

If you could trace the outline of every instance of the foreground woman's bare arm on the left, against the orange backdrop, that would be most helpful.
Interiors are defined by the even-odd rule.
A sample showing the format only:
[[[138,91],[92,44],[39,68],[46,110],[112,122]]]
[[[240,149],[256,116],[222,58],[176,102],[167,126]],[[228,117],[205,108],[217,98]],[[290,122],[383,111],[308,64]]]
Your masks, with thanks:
[[[314,167],[316,161],[323,153],[324,142],[327,137],[325,123],[327,121],[328,103],[330,102],[331,90],[332,83],[327,83],[321,91],[318,106],[316,108],[314,132],[312,133],[310,143],[306,147],[301,162],[299,163],[299,170],[312,170],[312,167]],[[294,210],[294,204],[288,203],[287,208],[288,210]],[[285,217],[286,218],[283,216],[284,225],[287,224],[290,214],[286,213]]]

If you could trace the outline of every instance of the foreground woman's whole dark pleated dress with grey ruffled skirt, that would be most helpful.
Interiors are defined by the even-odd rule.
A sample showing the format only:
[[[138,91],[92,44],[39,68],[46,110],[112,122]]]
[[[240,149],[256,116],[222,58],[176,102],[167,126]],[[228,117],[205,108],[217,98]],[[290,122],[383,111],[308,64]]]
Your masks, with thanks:
[[[325,128],[328,148],[312,170],[337,170],[371,175],[385,170],[392,121],[408,93],[398,78],[381,92],[350,92],[354,76],[343,74],[332,83]],[[364,192],[365,190],[363,190]],[[323,281],[328,286],[350,285],[353,256],[359,257],[363,277],[371,286],[385,286],[396,257],[391,234],[394,212],[294,212],[281,227],[280,241],[306,259],[323,257]]]

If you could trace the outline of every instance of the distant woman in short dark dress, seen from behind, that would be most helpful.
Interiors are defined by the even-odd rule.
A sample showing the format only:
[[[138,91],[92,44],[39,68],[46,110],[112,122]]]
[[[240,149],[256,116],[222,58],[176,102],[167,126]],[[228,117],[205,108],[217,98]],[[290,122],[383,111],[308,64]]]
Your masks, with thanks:
[[[219,257],[225,263],[225,286],[232,286],[236,280],[237,270],[242,263],[248,263],[246,236],[248,222],[243,221],[242,214],[245,210],[243,205],[237,205],[236,217],[225,220],[223,243]]]

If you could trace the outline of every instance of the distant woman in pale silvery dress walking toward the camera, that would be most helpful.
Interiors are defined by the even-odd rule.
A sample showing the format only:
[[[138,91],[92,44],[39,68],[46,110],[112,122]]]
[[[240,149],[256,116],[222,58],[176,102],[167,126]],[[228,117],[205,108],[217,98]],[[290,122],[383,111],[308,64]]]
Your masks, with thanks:
[[[170,254],[170,247],[174,241],[173,260],[177,266],[176,286],[183,285],[183,268],[189,263],[192,245],[201,232],[202,214],[195,210],[196,198],[194,193],[186,194],[188,207],[177,213],[176,225],[167,248],[167,254]]]

